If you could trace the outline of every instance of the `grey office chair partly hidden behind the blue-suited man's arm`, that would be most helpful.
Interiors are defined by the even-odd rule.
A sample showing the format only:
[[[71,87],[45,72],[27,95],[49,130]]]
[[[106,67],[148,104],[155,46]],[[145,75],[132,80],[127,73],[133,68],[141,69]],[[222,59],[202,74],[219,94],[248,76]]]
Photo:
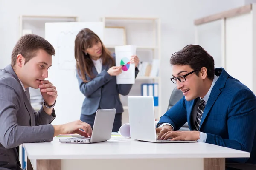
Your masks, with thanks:
[[[170,108],[172,108],[172,106],[174,106],[182,97],[183,97],[182,91],[178,90],[177,88],[174,88],[172,90],[172,94],[171,94],[170,99],[169,99],[169,105],[168,105],[167,111]],[[189,131],[188,123],[186,122],[182,127],[180,127],[179,130]]]

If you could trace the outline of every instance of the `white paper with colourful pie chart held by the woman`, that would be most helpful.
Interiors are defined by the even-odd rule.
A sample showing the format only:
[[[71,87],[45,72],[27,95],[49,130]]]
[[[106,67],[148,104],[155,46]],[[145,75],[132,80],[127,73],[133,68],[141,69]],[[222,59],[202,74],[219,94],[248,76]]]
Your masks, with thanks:
[[[135,83],[135,64],[131,64],[131,56],[136,55],[136,46],[123,45],[115,47],[116,66],[122,65],[122,73],[116,76],[116,84]]]

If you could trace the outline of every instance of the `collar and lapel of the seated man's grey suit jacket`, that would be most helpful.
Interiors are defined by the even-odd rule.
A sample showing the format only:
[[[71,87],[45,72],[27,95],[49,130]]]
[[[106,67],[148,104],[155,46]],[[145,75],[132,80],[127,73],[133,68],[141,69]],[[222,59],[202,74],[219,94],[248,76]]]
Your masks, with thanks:
[[[17,77],[17,74],[15,73],[15,71],[13,70],[11,65],[6,66],[6,68],[4,68],[6,71],[8,71],[10,74],[12,74],[12,76],[20,83],[20,79]],[[35,125],[35,116],[34,116],[34,111],[32,109],[32,106],[30,104],[30,94],[29,94],[29,88],[26,89],[26,93],[25,91],[23,91],[23,87],[20,84],[20,87],[22,88],[22,94],[23,94],[23,99],[24,99],[24,104],[26,106],[27,111],[29,112],[29,116],[30,116],[30,125],[34,126]]]

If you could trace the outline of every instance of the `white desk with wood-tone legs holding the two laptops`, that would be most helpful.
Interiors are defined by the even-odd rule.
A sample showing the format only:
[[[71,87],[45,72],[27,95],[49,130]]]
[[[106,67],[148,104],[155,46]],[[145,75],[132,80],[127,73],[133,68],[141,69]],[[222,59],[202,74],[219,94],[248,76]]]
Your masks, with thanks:
[[[36,160],[37,170],[224,170],[225,158],[250,157],[247,152],[206,143],[168,144],[118,138],[93,144],[62,144],[56,137],[52,142],[23,146],[28,159]]]

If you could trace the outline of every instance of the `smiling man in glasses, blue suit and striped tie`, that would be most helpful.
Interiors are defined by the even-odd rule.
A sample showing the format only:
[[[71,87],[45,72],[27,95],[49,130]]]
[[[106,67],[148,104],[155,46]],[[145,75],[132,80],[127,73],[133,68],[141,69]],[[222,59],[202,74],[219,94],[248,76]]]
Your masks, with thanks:
[[[226,162],[256,164],[253,92],[223,68],[214,69],[214,59],[199,45],[187,45],[172,54],[170,63],[171,80],[184,96],[160,118],[158,138],[197,140],[243,150],[250,152],[250,158],[229,158]],[[175,131],[186,122],[191,131]]]

